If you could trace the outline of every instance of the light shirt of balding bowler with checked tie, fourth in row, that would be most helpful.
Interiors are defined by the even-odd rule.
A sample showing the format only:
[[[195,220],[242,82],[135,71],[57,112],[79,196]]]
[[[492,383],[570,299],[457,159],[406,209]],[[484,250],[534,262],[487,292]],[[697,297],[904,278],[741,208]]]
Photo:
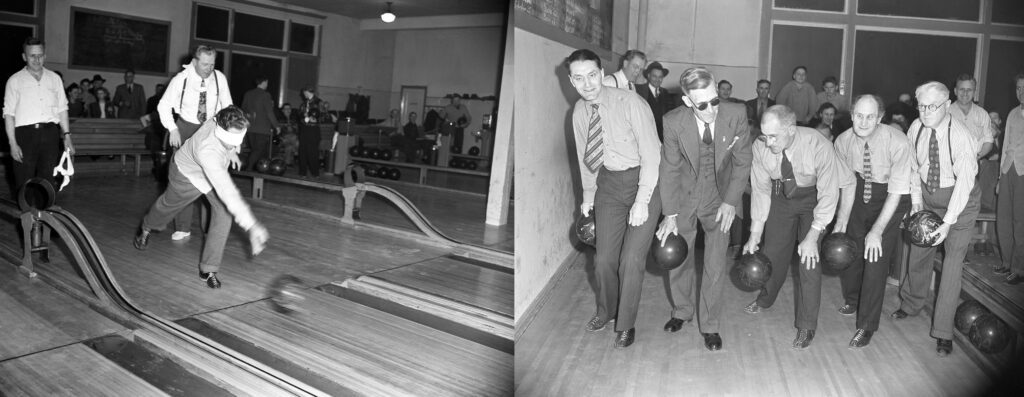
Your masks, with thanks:
[[[864,174],[864,143],[871,152],[871,182],[888,183],[892,194],[910,193],[910,159],[913,150],[906,134],[885,124],[874,127],[867,139],[853,129],[836,138],[836,156],[851,171]]]

